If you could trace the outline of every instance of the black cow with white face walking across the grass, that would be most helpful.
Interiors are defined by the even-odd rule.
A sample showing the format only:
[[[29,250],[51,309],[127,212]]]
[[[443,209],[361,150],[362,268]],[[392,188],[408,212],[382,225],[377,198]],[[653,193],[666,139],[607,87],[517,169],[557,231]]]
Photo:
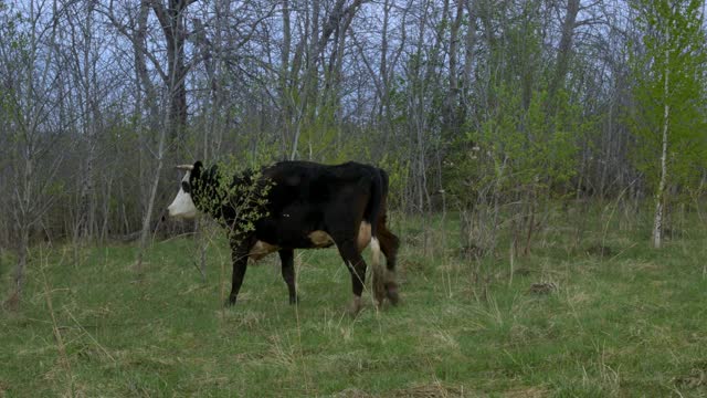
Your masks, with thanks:
[[[387,297],[398,302],[395,256],[399,239],[386,227],[388,175],[377,167],[358,163],[325,166],[309,161],[282,161],[260,174],[244,174],[229,182],[231,198],[218,198],[214,188],[223,177],[218,167],[205,168],[201,161],[178,166],[187,171],[181,189],[169,206],[169,216],[193,218],[197,211],[210,213],[230,226],[239,222],[239,187],[268,185],[261,216],[251,231],[231,237],[233,281],[228,304],[235,304],[249,258],[258,260],[277,251],[282,274],[289,290],[289,303],[297,302],[294,249],[337,247],[351,273],[354,302],[351,312],[361,307],[366,262],[361,252],[371,247],[373,292],[378,304]],[[256,180],[253,180],[256,176]],[[215,203],[215,206],[213,206]],[[387,270],[380,264],[380,252]]]

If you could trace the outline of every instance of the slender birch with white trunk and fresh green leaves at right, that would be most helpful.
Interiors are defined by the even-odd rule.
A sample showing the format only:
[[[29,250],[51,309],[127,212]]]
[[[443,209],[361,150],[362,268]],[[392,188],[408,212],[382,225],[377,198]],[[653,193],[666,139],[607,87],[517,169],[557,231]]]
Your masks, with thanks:
[[[633,130],[641,147],[639,167],[654,189],[653,247],[661,248],[668,187],[689,189],[695,167],[706,164],[705,32],[698,0],[640,0],[642,51],[633,57]]]

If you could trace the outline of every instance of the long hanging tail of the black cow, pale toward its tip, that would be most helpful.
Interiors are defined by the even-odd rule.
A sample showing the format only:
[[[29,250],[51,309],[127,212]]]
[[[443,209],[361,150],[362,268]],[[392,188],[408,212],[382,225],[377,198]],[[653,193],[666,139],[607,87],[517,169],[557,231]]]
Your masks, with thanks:
[[[388,176],[386,171],[374,169],[373,181],[371,185],[371,197],[369,200],[370,211],[368,212],[369,219],[367,220],[371,226],[371,254],[372,254],[372,284],[373,294],[378,304],[383,303],[386,297],[386,271],[380,259],[380,242],[378,241],[378,219],[383,211],[383,200],[388,193]]]

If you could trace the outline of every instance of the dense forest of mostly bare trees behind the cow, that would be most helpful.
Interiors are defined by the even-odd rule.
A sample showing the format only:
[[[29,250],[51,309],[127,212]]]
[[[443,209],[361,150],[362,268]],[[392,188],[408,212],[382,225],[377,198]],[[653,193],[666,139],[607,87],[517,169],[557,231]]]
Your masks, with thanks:
[[[196,159],[378,165],[392,211],[458,213],[461,250],[479,255],[502,230],[527,254],[551,209],[597,202],[650,213],[661,247],[704,217],[704,7],[0,2],[9,300],[38,242],[145,247],[197,229],[162,220],[172,166]]]

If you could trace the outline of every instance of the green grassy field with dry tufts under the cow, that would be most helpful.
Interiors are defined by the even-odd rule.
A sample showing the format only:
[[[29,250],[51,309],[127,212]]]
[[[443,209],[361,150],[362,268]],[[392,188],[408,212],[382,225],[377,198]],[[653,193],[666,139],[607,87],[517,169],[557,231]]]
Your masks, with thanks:
[[[139,280],[133,245],[36,248],[20,310],[0,312],[0,396],[706,397],[706,229],[654,250],[645,220],[590,214],[482,262],[454,217],[394,217],[401,305],[369,297],[356,318],[335,250],[297,252],[299,305],[273,255],[223,308],[222,239],[205,281],[190,238],[155,242]],[[10,259],[0,273],[7,289]]]

